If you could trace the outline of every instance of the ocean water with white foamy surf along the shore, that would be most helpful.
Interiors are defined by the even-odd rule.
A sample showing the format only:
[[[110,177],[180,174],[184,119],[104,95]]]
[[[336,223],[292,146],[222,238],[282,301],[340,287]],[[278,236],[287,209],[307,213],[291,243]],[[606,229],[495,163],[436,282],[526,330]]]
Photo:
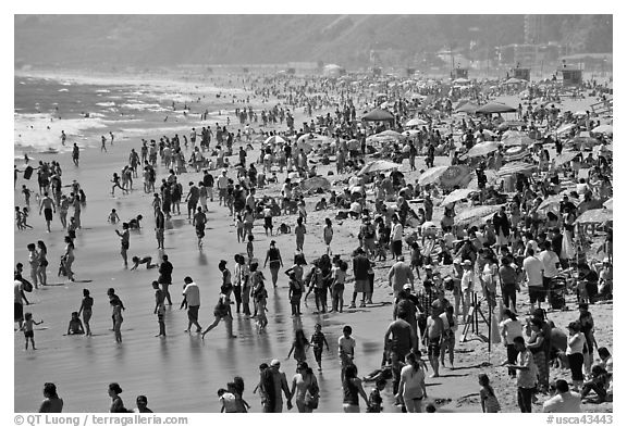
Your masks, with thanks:
[[[222,123],[226,118],[224,111],[235,109],[231,99],[216,97],[221,92],[218,88],[189,87],[175,81],[16,75],[14,89],[16,159],[48,149],[71,151],[74,142],[82,148],[98,147],[100,136],[108,136],[109,131],[118,140],[187,134],[192,127]],[[210,120],[202,123],[199,115],[206,109]],[[67,136],[66,147],[61,146],[61,130]]]

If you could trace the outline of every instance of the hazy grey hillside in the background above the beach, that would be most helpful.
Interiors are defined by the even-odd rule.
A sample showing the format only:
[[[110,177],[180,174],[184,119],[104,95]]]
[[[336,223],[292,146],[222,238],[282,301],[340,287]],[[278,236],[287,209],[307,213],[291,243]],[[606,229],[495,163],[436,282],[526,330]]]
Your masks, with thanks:
[[[453,46],[485,59],[524,42],[525,15],[15,15],[15,62],[123,66],[290,61],[410,65]],[[537,41],[612,51],[611,15],[541,15]]]

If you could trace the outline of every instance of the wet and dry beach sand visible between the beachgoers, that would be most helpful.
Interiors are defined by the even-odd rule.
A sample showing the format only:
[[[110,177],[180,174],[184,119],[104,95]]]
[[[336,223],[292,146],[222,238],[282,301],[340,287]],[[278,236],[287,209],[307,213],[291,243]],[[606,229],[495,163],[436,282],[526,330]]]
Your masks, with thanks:
[[[302,123],[306,117],[298,112],[295,123]],[[214,122],[209,123],[213,125]],[[198,123],[197,128],[198,125],[201,126]],[[147,136],[150,137],[148,130]],[[48,246],[50,263],[48,267],[50,286],[28,293],[27,298],[33,304],[25,306],[25,311],[32,312],[35,319],[45,321],[35,331],[38,350],[25,352],[23,335],[15,332],[15,411],[36,411],[42,399],[40,395],[42,384],[52,381],[57,384],[59,394],[65,401],[65,412],[107,412],[110,405],[107,386],[111,381],[118,381],[124,389],[122,398],[127,407],[134,407],[137,394],[146,394],[149,407],[156,412],[214,413],[220,410],[216,391],[232,380],[233,376],[239,375],[246,381],[244,398],[253,405],[251,412],[260,412],[259,398],[251,394],[258,380],[258,365],[262,362],[269,363],[271,359],[280,359],[282,371],[287,374],[290,381],[295,373],[295,361],[285,361],[296,325],[296,321],[290,316],[286,276],[280,275],[276,290],[272,289],[271,282],[270,285],[267,282],[270,294],[267,334],[258,335],[253,321],[238,316],[234,321],[234,334],[238,336],[237,339],[226,339],[223,325],[209,332],[205,340],[197,334],[184,334],[187,316],[184,311],[179,310],[183,277],[193,277],[200,287],[199,322],[205,327],[213,321],[212,311],[218,299],[221,277],[218,262],[224,259],[233,269],[233,254],[245,252],[245,244],[236,242],[235,228],[228,210],[219,206],[216,201],[209,203],[207,236],[204,250],[199,253],[194,228],[187,223],[186,214],[183,212],[186,206],[182,205],[183,214],[174,215],[165,231],[164,252],[169,254],[174,265],[174,282],[170,288],[174,305],[169,307],[165,314],[169,336],[165,339],[155,338],[158,326],[157,318],[152,315],[153,291],[150,284],[157,278],[157,272],[142,267],[137,272],[124,269],[119,254],[120,243],[114,233],[115,227],[107,224],[108,213],[113,208],[118,210],[122,221],[142,214],[145,218],[143,229],[132,233],[128,254],[151,255],[155,261],[159,261],[150,208],[152,197],[143,192],[140,180],[134,183],[135,191],[131,194],[116,192],[115,198],[110,196],[109,179],[112,173],[119,172],[125,164],[131,148],[137,150],[140,145],[139,138],[125,138],[124,135],[120,135],[114,143],[106,154],[97,149],[82,151],[78,168],[72,165],[70,154],[49,158],[61,163],[64,184],[77,179],[87,194],[87,209],[82,216],[85,228],[78,231],[76,239],[76,261],[73,267],[76,282],[61,280],[56,275],[65,235],[57,217],[52,224],[52,233],[48,235],[44,233],[42,217],[38,216],[34,209],[29,219],[35,229],[14,233],[15,262],[27,264],[26,244],[44,239]],[[237,147],[234,152],[236,150]],[[256,155],[257,151],[249,152],[248,160],[251,161]],[[48,158],[41,156],[41,159]],[[447,160],[444,158],[437,159],[437,163],[445,161]],[[418,169],[423,167],[421,160],[417,163]],[[332,166],[334,168],[334,165]],[[408,166],[405,164],[402,172],[406,169]],[[165,177],[165,172],[163,166],[159,167],[158,183]],[[320,167],[320,172],[325,175],[327,168]],[[233,173],[231,171],[230,175]],[[330,178],[333,180],[337,177]],[[187,183],[198,181],[200,174],[186,173],[180,179],[184,188],[187,188]],[[414,179],[413,174],[408,174],[408,181]],[[20,204],[23,204],[19,192],[22,183],[23,179],[20,178],[15,191],[15,200],[20,200]],[[37,183],[32,179],[30,188],[36,189],[36,185]],[[279,186],[273,185],[258,191],[258,196],[276,194],[279,191]],[[309,217],[305,253],[308,261],[323,253],[324,217],[334,217],[334,212],[312,212],[319,198],[307,199]],[[33,203],[32,201],[32,208]],[[435,214],[441,215],[440,208]],[[293,227],[295,219],[295,216],[276,217],[274,224],[285,222]],[[333,252],[341,253],[346,260],[357,246],[359,223],[351,219],[342,224],[334,219],[333,222],[335,229]],[[255,239],[255,254],[262,260],[270,238],[263,235],[262,224],[259,221],[256,222]],[[290,261],[295,249],[294,236],[278,236],[272,239],[276,240],[287,267],[291,265]],[[348,324],[353,327],[353,336],[357,340],[355,362],[359,374],[367,375],[380,365],[383,335],[392,321],[392,296],[386,284],[388,268],[391,264],[390,258],[388,262],[377,263],[373,296],[377,304],[373,306],[345,310],[342,314],[318,315],[312,313],[315,311],[312,296],[308,300],[308,306],[304,306],[302,325],[307,336],[314,332],[316,323],[321,323],[332,349],[330,353],[324,352],[323,373],[317,373],[321,388],[320,412],[342,411],[336,341],[343,325]],[[27,275],[28,267],[25,268],[25,276]],[[270,278],[268,269],[265,271],[265,275]],[[115,288],[115,292],[126,306],[123,313],[121,346],[115,343],[113,332],[109,330],[111,309],[106,296],[109,287]],[[94,337],[63,337],[70,313],[77,311],[81,305],[83,288],[90,289],[95,299],[91,319]],[[344,294],[346,304],[349,302],[352,290],[351,282]],[[520,297],[519,300],[527,298]],[[569,305],[574,306],[571,302]],[[520,312],[526,312],[527,309],[526,305],[521,309],[519,306]],[[594,305],[591,312],[598,325],[597,339],[600,346],[612,349],[612,304]],[[577,315],[577,312],[570,311],[550,313],[549,317],[557,326],[565,327]],[[487,327],[483,326],[482,331],[487,335]],[[496,366],[505,360],[503,344],[493,344],[492,352],[488,353],[488,344],[479,339],[472,339],[464,344],[457,343],[455,359],[456,369],[442,368],[440,378],[427,380],[429,400],[441,399],[440,405],[443,405],[444,410],[480,412],[477,375],[484,372],[491,377],[503,411],[517,412],[515,384],[508,379],[505,368]],[[308,362],[315,366],[311,352],[308,352]],[[569,378],[569,372],[558,376]],[[390,385],[383,395],[385,411],[397,412],[398,409],[391,403]],[[585,407],[588,411],[611,411],[612,404]],[[534,411],[539,410],[539,406],[534,407]]]

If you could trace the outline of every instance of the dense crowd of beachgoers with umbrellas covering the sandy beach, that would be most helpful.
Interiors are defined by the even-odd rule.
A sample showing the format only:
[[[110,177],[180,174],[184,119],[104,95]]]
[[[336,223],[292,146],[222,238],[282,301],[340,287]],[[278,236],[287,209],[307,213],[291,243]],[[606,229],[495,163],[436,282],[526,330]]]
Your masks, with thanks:
[[[593,131],[600,117],[590,111],[583,115],[562,112],[554,98],[551,103],[542,101],[551,96],[546,92],[539,95],[538,109],[531,102],[527,110],[521,104],[514,109],[517,123],[507,123],[501,114],[460,116],[456,110],[465,103],[457,102],[458,92],[453,89],[443,92],[442,86],[423,86],[417,90],[417,97],[409,99],[397,90],[389,90],[385,118],[362,120],[359,112],[365,105],[378,105],[381,99],[361,98],[355,88],[337,95],[337,89],[345,86],[336,81],[317,83],[318,92],[328,93],[324,97],[311,95],[316,86],[288,85],[285,83],[280,90],[278,81],[267,81],[265,89],[257,89],[257,96],[279,97],[283,101],[281,106],[259,112],[262,126],[257,124],[257,112],[251,108],[237,108],[236,131],[233,126],[237,125],[229,124],[228,128],[216,124],[198,133],[193,128],[188,139],[184,136],[181,140],[174,135],[163,136],[159,141],[143,140],[139,153],[133,148],[127,164],[113,174],[112,193],[118,188],[133,197],[136,189],[133,178],[142,173],[144,192],[153,194],[151,208],[159,260],[152,263],[150,255],[132,256],[131,269],[145,265],[158,276],[152,281],[157,337],[167,337],[164,316],[172,315],[167,310],[167,305],[172,305],[169,288],[174,269],[164,253],[167,222],[173,216],[185,218],[186,214],[188,226],[195,229],[198,250],[204,251],[206,227],[211,222],[209,211],[217,205],[221,206],[218,208],[221,214],[233,219],[237,242],[246,243],[246,253],[234,254],[233,262],[218,263],[222,282],[220,292],[212,296],[213,322],[205,328],[199,323],[199,287],[192,277],[184,278],[180,309],[187,312],[187,334],[197,332],[205,338],[222,322],[228,337],[235,339],[234,316],[255,322],[259,334],[270,334],[268,288],[276,288],[282,269],[288,280],[286,298],[294,318],[308,314],[304,313],[302,302],[310,293],[315,314],[332,314],[357,309],[357,304],[373,306],[376,282],[390,287],[393,321],[383,337],[381,366],[365,378],[374,384],[369,394],[358,376],[353,329],[348,325],[342,329],[337,355],[345,412],[359,412],[360,400],[367,412],[381,412],[385,406],[381,391],[389,379],[394,401],[403,412],[422,412],[422,402],[428,397],[427,378],[439,377],[443,367],[455,368],[459,329],[464,327],[466,334],[471,312],[481,304],[502,318],[501,338],[507,355],[503,368],[516,378],[520,412],[532,412],[539,393],[554,394],[543,403],[546,412],[579,412],[581,399],[591,391],[597,394],[594,402],[610,399],[613,363],[606,347],[606,347],[597,342],[590,306],[613,298],[612,221],[607,216],[579,221],[586,213],[601,211],[612,197],[611,135]],[[603,85],[592,88],[604,92]],[[335,93],[334,102],[328,101],[329,93]],[[468,93],[469,102],[489,101],[478,91]],[[331,111],[304,122],[297,129],[296,109],[311,117],[316,110]],[[411,120],[421,124],[406,125]],[[279,128],[284,122],[283,131],[255,130],[256,126]],[[582,137],[581,133],[595,136]],[[113,134],[110,135],[112,149]],[[586,155],[585,148],[573,142],[577,138],[588,138],[581,143],[594,147],[594,151]],[[107,150],[106,141],[102,137],[102,151]],[[477,154],[478,147],[488,147],[490,142],[494,142],[493,148]],[[234,146],[239,146],[238,152]],[[565,146],[573,146],[574,150],[565,151]],[[512,155],[508,147],[517,148],[516,153]],[[565,158],[566,153],[573,155]],[[417,158],[425,162],[425,169],[417,169]],[[435,158],[444,158],[444,166],[435,166]],[[405,160],[409,171],[402,173],[398,169],[404,167]],[[388,164],[381,163],[385,161]],[[382,166],[370,167],[374,163]],[[505,172],[513,164],[516,166],[513,172]],[[435,176],[433,172],[439,167]],[[327,175],[322,176],[320,171]],[[15,183],[19,172],[15,168]],[[160,183],[158,172],[163,175]],[[187,174],[201,177],[186,178]],[[53,215],[58,213],[67,233],[60,275],[74,280],[76,234],[88,233],[81,224],[85,192],[74,180],[71,191],[63,193],[65,186],[58,162],[39,162],[37,176],[36,196],[47,231],[56,226]],[[415,177],[414,181],[409,176]],[[306,186],[311,179],[321,184]],[[468,191],[463,196],[443,203],[465,189]],[[21,191],[26,208],[15,208],[16,226],[17,230],[29,233],[25,231],[32,227],[26,217],[35,191],[26,185]],[[183,213],[181,203],[187,204]],[[439,205],[443,208],[442,215]],[[71,208],[73,216],[67,222]],[[308,222],[311,217],[308,208],[322,215],[323,226]],[[471,215],[472,212],[477,214]],[[274,224],[274,218],[280,218],[281,224]],[[115,233],[125,267],[131,229],[142,227],[142,219],[139,215],[121,222],[115,210],[107,217],[113,225],[121,223]],[[261,219],[263,231],[258,226]],[[335,249],[339,230],[334,222],[343,227],[353,224],[358,229],[352,253],[343,254]],[[285,268],[292,263],[282,256],[276,241],[271,240],[261,266],[262,256],[255,248],[255,237],[260,233],[269,237],[293,234],[293,265]],[[311,235],[320,236],[324,243],[324,253],[314,259],[308,256],[315,252]],[[597,246],[594,251],[591,244]],[[44,240],[28,244],[27,251],[30,280],[22,275],[22,263],[14,273],[15,322],[24,331],[26,349],[30,341],[34,350],[33,325],[38,323],[32,313],[24,313],[24,305],[28,305],[25,292],[37,291],[48,284],[49,263]],[[389,267],[383,277],[378,277],[376,264]],[[262,272],[268,267],[270,280]],[[353,291],[345,300],[349,282]],[[107,293],[115,341],[122,344],[125,307],[113,288]],[[528,302],[521,301],[525,297]],[[79,311],[72,313],[67,335],[91,335],[93,304],[89,289],[85,289]],[[567,304],[576,304],[579,316],[568,324],[566,334],[550,319],[550,313],[560,312]],[[526,309],[528,312],[524,313]],[[528,315],[526,323],[519,319],[525,315]],[[280,371],[279,360],[260,365],[254,393],[259,392],[263,412],[282,412],[284,402],[287,410],[295,402],[298,412],[318,409],[324,390],[306,362],[309,347],[320,372],[322,352],[330,349],[320,324],[309,340],[302,328],[295,330],[287,354],[297,361],[291,384]],[[594,361],[594,350],[600,362]],[[562,379],[565,367],[570,369],[570,386]],[[483,412],[499,412],[501,405],[489,375],[482,373],[478,381]],[[121,392],[118,384],[109,386],[111,412],[126,412]],[[44,393],[41,412],[61,411],[63,401],[54,385],[46,384]],[[243,394],[241,377],[220,388],[222,412],[247,412],[250,405]],[[432,404],[426,405],[426,410],[437,411]],[[146,397],[137,398],[136,412],[150,412]]]

